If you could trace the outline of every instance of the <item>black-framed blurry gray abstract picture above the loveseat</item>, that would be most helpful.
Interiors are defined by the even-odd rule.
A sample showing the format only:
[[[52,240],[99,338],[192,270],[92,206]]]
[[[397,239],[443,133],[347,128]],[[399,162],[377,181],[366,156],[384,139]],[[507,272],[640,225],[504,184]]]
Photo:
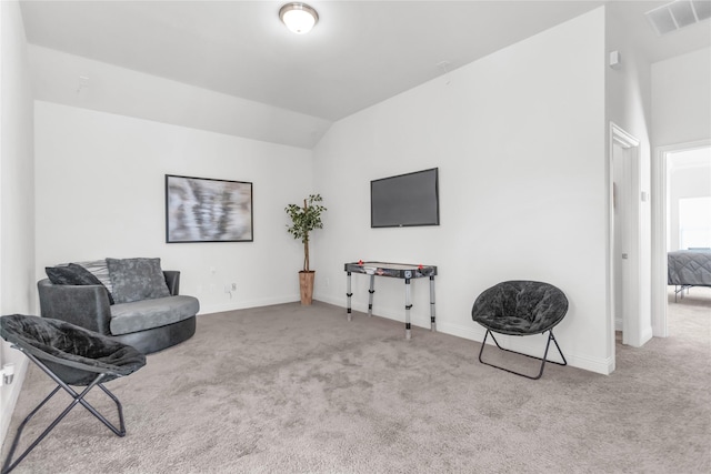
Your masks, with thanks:
[[[252,242],[252,183],[166,174],[166,243]]]

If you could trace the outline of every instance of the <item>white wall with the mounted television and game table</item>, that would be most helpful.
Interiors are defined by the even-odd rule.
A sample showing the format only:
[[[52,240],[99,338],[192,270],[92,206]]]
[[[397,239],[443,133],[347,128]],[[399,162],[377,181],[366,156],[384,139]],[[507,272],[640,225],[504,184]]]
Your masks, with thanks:
[[[434,264],[438,329],[480,341],[480,292],[548,281],[570,300],[557,331],[569,362],[608,373],[603,60],[598,9],[333,124],[314,150],[313,191],[329,208],[316,297],[346,305],[346,262]],[[433,167],[441,225],[370,229],[370,180]],[[374,313],[402,321],[402,281],[380,280]],[[368,279],[353,283],[365,311]],[[429,327],[428,284],[412,286],[413,324]]]

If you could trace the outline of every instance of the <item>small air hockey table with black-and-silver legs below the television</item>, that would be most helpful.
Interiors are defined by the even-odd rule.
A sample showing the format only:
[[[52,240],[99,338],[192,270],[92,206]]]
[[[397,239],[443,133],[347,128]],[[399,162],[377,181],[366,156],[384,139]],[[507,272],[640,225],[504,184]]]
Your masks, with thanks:
[[[370,290],[368,290],[368,315],[373,315],[373,294],[375,293],[375,276],[388,276],[392,279],[404,280],[404,336],[411,337],[410,309],[412,307],[412,295],[410,293],[410,281],[412,279],[430,279],[430,329],[437,331],[434,314],[434,276],[437,275],[437,266],[433,265],[414,265],[408,263],[387,263],[387,262],[363,262],[362,260],[352,263],[346,263],[343,270],[347,274],[346,296],[348,299],[347,311],[348,321],[352,320],[351,314],[351,274],[362,273],[370,275]]]

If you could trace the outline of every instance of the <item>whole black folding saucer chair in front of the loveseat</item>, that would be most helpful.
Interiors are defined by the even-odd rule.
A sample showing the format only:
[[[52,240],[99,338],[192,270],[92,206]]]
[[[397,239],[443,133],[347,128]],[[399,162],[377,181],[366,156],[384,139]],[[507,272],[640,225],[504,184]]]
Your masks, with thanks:
[[[63,321],[20,314],[0,317],[0,336],[12,344],[12,347],[22,351],[57,382],[57,387],[18,427],[8,457],[2,465],[2,474],[12,471],[77,404],[81,404],[116,435],[126,435],[121,402],[103,384],[141,369],[146,365],[143,354],[130,345]],[[86,386],[86,389],[77,393],[70,385]],[[119,427],[84,400],[87,393],[94,386],[99,386],[116,403]],[[13,462],[12,456],[24,425],[60,389],[64,389],[71,395],[72,402]]]

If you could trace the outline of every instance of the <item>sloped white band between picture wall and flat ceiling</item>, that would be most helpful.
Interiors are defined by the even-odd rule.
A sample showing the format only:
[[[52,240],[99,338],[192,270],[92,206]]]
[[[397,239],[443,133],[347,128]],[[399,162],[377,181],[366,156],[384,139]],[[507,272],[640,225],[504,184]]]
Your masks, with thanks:
[[[308,149],[331,124],[48,48],[30,46],[29,57],[37,100]]]

